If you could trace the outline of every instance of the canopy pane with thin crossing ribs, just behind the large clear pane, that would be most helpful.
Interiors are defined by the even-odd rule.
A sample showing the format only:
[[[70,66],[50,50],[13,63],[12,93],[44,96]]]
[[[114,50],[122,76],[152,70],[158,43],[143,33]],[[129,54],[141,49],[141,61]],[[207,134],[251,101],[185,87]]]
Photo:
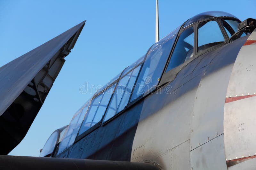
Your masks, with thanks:
[[[108,110],[106,111],[104,121],[115,116],[128,104],[130,95],[132,93],[132,87],[140,71],[140,66],[136,67],[119,80],[113,97],[109,103]]]

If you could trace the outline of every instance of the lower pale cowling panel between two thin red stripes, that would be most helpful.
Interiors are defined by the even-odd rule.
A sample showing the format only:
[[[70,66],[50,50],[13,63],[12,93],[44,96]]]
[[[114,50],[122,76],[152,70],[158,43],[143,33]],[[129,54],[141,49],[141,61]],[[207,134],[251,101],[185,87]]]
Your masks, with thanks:
[[[226,159],[238,159],[256,153],[256,96],[225,103],[224,141]]]

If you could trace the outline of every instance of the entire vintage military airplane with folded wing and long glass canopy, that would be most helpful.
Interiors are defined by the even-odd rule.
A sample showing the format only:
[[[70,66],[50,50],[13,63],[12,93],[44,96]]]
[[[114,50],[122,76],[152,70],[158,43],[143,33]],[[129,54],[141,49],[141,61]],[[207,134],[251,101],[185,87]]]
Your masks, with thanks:
[[[189,18],[160,40],[156,28],[156,43],[55,130],[39,157],[6,156],[84,25],[0,68],[0,169],[255,167],[256,20],[221,11]]]

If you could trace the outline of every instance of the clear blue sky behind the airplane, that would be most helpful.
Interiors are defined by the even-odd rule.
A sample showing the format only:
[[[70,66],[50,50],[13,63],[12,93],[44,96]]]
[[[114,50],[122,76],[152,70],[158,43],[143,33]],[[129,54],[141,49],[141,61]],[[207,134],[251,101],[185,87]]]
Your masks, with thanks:
[[[155,0],[0,0],[0,7],[0,66],[87,20],[26,137],[10,155],[38,156],[51,133],[69,124],[92,96],[81,94],[80,86],[104,85],[155,40]],[[160,38],[201,12],[226,11],[244,20],[256,18],[255,7],[255,0],[159,0]]]

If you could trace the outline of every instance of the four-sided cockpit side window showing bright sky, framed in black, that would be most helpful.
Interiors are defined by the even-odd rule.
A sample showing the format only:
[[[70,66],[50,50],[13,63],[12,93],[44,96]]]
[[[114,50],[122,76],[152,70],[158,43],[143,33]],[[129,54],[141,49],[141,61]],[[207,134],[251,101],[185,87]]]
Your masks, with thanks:
[[[202,22],[198,25],[198,53],[223,42],[225,39],[216,21]]]

